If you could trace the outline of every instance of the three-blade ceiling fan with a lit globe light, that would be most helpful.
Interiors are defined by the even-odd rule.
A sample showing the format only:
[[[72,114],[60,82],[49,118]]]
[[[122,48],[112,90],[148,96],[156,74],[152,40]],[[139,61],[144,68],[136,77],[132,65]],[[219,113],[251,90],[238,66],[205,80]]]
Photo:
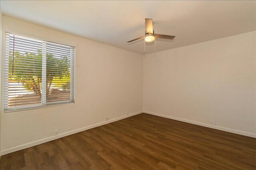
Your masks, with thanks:
[[[146,42],[154,41],[156,38],[162,38],[162,39],[174,39],[175,36],[172,35],[163,35],[163,34],[155,34],[153,30],[153,19],[145,18],[145,24],[146,24],[146,32],[145,35],[142,37],[138,37],[136,39],[133,39],[131,41],[127,41],[127,43],[131,43],[133,41],[136,41],[138,39],[145,38]]]

